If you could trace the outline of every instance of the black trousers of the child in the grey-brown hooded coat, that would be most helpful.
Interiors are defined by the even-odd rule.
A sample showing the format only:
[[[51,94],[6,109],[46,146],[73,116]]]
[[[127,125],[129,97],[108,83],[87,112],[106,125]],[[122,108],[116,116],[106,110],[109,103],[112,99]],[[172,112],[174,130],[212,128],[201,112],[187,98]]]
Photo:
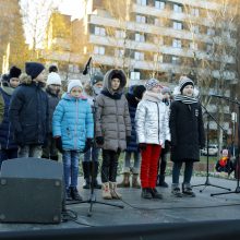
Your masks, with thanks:
[[[101,182],[116,182],[120,151],[103,149]]]

